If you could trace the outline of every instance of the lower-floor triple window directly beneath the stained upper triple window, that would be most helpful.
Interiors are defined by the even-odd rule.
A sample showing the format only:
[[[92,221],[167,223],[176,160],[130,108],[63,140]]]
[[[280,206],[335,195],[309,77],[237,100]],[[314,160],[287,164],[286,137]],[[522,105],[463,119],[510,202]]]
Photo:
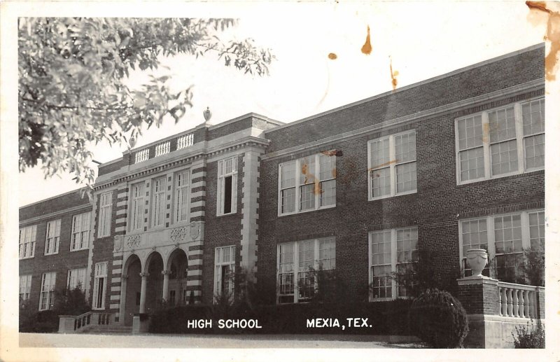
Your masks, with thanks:
[[[278,301],[311,300],[317,288],[317,272],[335,270],[335,254],[334,237],[279,244]]]

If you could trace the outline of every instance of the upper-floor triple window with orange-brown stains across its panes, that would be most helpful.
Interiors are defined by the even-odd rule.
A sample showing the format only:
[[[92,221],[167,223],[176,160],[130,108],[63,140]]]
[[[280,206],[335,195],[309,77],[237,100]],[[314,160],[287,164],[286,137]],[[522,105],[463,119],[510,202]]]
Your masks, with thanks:
[[[336,155],[331,153],[279,165],[279,215],[336,205]]]

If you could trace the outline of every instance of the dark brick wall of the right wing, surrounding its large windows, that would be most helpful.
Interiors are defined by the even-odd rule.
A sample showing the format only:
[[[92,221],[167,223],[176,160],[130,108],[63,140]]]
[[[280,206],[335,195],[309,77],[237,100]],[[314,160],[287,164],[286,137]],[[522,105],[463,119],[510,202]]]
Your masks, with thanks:
[[[531,52],[531,56],[540,53],[542,53],[540,50],[535,50]],[[528,57],[527,54],[519,56],[520,59],[526,57]],[[383,106],[379,110],[375,109],[374,104],[367,106],[361,104],[328,117],[318,117],[316,120],[306,121],[293,127],[268,132],[267,137],[272,138],[272,145],[267,152],[279,151],[284,147],[305,144],[332,134],[340,134],[352,128],[364,127],[365,123],[362,120],[367,119],[371,124],[372,120],[381,122],[394,116],[427,109],[428,106],[455,102],[458,100],[456,99],[457,92],[461,97],[472,97],[498,89],[496,84],[499,85],[499,88],[505,88],[512,85],[512,82],[528,81],[531,79],[526,78],[528,74],[531,74],[532,78],[542,76],[542,64],[540,64],[542,57],[537,56],[535,59],[538,58],[538,61],[531,60],[527,71],[518,70],[515,74],[505,74],[512,64],[517,64],[519,61],[517,58],[502,62],[504,64],[502,64],[503,67],[499,67],[499,72],[498,66],[492,64],[486,65],[482,69],[468,71],[468,74],[475,75],[468,82],[470,86],[476,88],[475,90],[465,86],[466,83],[462,83],[461,87],[451,87],[448,80],[436,82],[437,87],[445,87],[440,92],[428,92],[430,97],[437,95],[438,99],[426,99],[428,95],[411,93],[412,90],[402,92],[410,98],[419,97],[419,99],[426,100],[426,106],[416,104],[416,101],[408,104],[407,102],[413,101],[401,99],[400,97],[405,96],[395,92],[388,95],[386,101],[383,101],[402,100],[398,109],[395,108],[391,112],[388,112]],[[490,76],[489,72],[492,69],[493,72],[497,72],[491,76],[491,80],[494,82],[489,80],[483,82],[482,75]],[[461,74],[454,76],[454,82],[463,77],[464,75]],[[430,83],[422,85],[420,88],[423,91],[437,89],[434,87],[436,85]],[[542,95],[542,90],[473,107],[461,114],[488,109],[497,104],[517,102],[520,99],[536,95]],[[381,102],[381,100],[375,102]],[[302,152],[279,159],[263,160],[260,173],[258,281],[269,284],[269,286],[276,283],[277,243],[309,239],[321,235],[335,235],[337,274],[353,291],[363,295],[368,283],[368,232],[405,225],[418,225],[419,247],[431,251],[434,258],[435,284],[451,292],[455,291],[455,279],[459,276],[458,218],[464,218],[473,213],[488,215],[507,212],[506,210],[544,207],[545,200],[545,172],[542,170],[457,185],[454,119],[459,115],[459,113],[449,113],[393,130],[337,141],[328,146],[314,148],[311,153]],[[321,125],[324,126],[321,127]],[[412,128],[416,130],[417,192],[412,195],[367,201],[367,140]],[[339,155],[337,155],[337,206],[333,209],[279,217],[277,214],[279,163],[330,149],[339,151]],[[272,300],[273,296],[271,296]]]

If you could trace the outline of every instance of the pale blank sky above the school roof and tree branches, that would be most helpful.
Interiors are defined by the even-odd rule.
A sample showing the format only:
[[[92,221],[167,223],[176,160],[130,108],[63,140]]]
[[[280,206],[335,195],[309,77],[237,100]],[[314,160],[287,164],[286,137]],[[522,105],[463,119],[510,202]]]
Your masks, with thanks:
[[[136,147],[196,127],[207,106],[214,124],[250,112],[289,123],[390,91],[390,67],[398,89],[542,43],[545,34],[545,25],[535,21],[537,15],[524,1],[172,4],[176,8],[142,3],[126,8],[130,11],[125,14],[239,18],[223,38],[253,38],[258,46],[271,48],[276,60],[262,78],[225,67],[212,55],[162,60],[173,88],[193,85],[193,108],[177,124],[167,120],[160,128],[145,130]],[[66,15],[52,6],[41,10]],[[123,15],[102,6],[89,10],[92,16]],[[369,55],[361,52],[367,27]],[[140,85],[146,77],[134,73],[130,85]],[[108,162],[125,149],[100,144],[92,151],[94,160]],[[39,167],[20,173],[19,205],[79,188],[72,178],[62,174],[45,180]]]

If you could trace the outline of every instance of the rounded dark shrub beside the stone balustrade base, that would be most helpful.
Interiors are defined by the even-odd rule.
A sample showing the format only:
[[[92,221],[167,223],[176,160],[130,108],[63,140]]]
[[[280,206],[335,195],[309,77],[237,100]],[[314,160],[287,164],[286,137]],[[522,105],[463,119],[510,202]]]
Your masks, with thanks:
[[[428,289],[409,310],[410,329],[434,348],[463,347],[468,333],[467,314],[447,291]]]

